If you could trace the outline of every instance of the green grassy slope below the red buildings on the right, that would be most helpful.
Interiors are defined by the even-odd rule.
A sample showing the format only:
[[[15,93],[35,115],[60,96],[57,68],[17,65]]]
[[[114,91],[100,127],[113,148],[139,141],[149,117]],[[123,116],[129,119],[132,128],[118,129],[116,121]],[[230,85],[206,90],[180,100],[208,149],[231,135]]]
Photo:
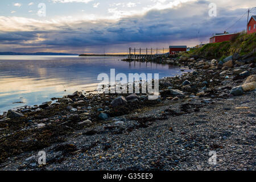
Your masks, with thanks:
[[[256,33],[247,35],[245,32],[240,32],[230,41],[205,44],[203,47],[193,48],[182,55],[199,55],[222,60],[235,52],[245,55],[253,51],[254,48],[256,48]]]

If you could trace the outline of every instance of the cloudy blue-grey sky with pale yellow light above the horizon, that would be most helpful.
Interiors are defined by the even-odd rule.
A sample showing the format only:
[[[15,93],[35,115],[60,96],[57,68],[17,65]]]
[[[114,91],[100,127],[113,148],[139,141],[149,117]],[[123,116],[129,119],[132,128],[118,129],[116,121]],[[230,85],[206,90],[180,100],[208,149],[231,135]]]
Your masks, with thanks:
[[[216,14],[213,14],[216,7]],[[252,0],[1,0],[0,52],[127,53],[246,30]]]

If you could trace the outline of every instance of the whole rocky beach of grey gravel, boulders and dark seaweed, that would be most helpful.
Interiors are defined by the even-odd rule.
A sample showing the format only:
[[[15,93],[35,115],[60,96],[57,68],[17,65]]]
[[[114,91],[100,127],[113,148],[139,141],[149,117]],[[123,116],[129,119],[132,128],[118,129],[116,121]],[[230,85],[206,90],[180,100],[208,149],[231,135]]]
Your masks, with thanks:
[[[157,100],[75,92],[1,115],[0,169],[255,170],[254,53],[156,61],[193,71],[160,79]]]

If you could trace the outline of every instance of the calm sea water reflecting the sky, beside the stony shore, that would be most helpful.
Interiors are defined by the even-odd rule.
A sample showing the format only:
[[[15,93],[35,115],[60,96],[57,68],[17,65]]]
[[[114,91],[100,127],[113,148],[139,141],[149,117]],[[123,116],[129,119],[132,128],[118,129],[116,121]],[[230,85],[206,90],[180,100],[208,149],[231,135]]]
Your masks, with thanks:
[[[154,63],[127,63],[124,57],[0,56],[0,113],[36,105],[76,90],[97,88],[97,76],[115,68],[115,74],[159,73],[179,75],[180,68]],[[188,69],[184,69],[188,71]],[[66,91],[65,91],[66,90]],[[16,103],[23,102],[23,103]]]

